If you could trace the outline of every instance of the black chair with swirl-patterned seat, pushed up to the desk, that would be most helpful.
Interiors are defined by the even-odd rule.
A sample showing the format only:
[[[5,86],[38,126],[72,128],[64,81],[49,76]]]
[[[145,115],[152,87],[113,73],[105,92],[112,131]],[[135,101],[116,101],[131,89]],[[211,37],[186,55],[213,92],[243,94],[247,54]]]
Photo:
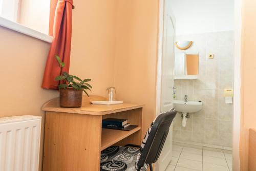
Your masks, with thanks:
[[[101,152],[101,171],[146,171],[147,167],[153,171],[155,163],[162,151],[169,132],[170,124],[176,115],[176,110],[160,114],[151,123],[141,146],[127,144],[125,146],[111,146]]]

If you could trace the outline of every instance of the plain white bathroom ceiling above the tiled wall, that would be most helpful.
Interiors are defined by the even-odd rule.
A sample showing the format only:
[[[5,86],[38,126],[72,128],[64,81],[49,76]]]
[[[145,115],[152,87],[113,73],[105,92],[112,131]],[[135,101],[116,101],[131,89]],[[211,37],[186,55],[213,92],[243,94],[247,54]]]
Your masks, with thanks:
[[[234,0],[169,0],[176,34],[233,30]]]

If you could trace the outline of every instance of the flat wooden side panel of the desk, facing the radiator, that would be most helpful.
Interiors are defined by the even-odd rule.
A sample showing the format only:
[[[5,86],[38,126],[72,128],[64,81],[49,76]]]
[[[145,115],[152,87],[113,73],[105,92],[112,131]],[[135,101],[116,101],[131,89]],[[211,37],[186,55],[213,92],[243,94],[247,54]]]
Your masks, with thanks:
[[[47,112],[44,171],[98,171],[101,116]]]

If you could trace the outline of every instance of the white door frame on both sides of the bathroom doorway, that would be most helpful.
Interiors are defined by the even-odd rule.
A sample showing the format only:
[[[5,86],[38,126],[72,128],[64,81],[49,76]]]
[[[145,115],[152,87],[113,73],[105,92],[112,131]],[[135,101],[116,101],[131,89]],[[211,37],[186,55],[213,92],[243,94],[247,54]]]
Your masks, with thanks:
[[[156,115],[160,113],[164,1],[159,0]],[[242,0],[234,0],[233,171],[240,170]],[[159,163],[156,163],[159,170]],[[159,170],[160,171],[160,170]]]

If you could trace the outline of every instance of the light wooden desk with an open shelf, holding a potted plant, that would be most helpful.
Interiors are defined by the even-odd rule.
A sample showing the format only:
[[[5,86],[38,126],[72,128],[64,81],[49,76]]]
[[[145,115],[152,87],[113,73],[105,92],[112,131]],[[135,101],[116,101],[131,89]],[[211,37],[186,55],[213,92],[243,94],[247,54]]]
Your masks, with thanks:
[[[60,108],[58,98],[50,100],[46,111],[44,171],[98,171],[100,152],[111,145],[141,144],[143,104],[95,105],[100,96],[83,96],[81,108]],[[138,125],[132,131],[102,129],[104,118],[128,119]]]

